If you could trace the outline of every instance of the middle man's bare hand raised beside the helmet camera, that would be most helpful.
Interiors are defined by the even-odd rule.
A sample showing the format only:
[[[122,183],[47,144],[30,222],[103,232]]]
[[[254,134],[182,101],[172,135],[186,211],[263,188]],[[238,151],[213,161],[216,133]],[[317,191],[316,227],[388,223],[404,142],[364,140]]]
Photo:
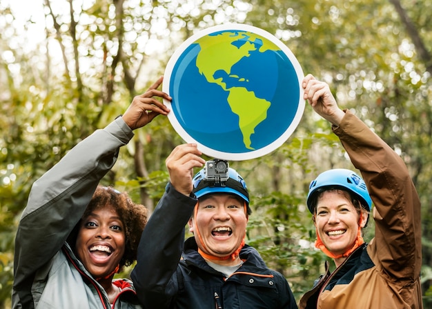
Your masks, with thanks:
[[[166,158],[166,168],[170,183],[178,192],[190,195],[193,190],[193,168],[202,168],[206,161],[200,157],[202,152],[195,143],[177,146]]]

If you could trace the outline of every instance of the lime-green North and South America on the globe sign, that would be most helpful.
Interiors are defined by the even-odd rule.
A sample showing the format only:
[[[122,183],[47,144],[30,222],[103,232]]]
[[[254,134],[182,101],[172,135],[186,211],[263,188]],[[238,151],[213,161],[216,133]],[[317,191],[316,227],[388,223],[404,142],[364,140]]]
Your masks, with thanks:
[[[241,39],[246,39],[242,46],[237,47],[232,44]],[[251,32],[221,32],[217,35],[206,35],[195,42],[201,47],[196,63],[199,73],[204,75],[209,83],[216,83],[224,91],[229,92],[228,104],[239,117],[239,128],[243,134],[244,146],[252,150],[254,148],[251,147],[251,135],[255,132],[258,124],[266,119],[271,102],[257,98],[254,92],[243,87],[226,88],[226,83],[222,77],[215,79],[214,74],[218,70],[224,70],[230,78],[247,82],[244,77],[238,77],[230,74],[230,72],[235,63],[243,57],[249,57],[250,52],[257,50],[253,43],[255,40],[262,41],[259,52],[277,50],[277,46],[271,41]]]

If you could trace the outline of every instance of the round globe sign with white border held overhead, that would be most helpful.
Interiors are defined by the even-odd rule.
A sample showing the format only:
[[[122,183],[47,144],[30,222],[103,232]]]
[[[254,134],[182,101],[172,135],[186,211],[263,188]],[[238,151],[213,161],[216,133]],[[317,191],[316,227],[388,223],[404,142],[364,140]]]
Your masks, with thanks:
[[[300,123],[305,101],[300,63],[273,34],[229,23],[184,41],[168,61],[168,119],[187,143],[224,160],[279,148]]]

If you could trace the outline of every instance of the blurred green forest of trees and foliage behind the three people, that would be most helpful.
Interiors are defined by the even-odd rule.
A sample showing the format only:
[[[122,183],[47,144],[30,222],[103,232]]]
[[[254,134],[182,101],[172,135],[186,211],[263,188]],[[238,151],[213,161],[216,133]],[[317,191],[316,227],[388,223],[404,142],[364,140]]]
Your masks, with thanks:
[[[228,22],[275,34],[305,74],[327,81],[340,106],[404,159],[422,201],[422,288],[432,308],[431,1],[1,0],[0,12],[0,308],[10,308],[14,234],[32,183],[124,112],[184,40]],[[164,160],[179,143],[158,117],[121,148],[103,183],[153,210],[168,181]],[[308,184],[353,166],[310,106],[283,146],[231,166],[252,195],[247,242],[298,301],[326,259],[313,246]],[[372,235],[373,225],[366,240]]]

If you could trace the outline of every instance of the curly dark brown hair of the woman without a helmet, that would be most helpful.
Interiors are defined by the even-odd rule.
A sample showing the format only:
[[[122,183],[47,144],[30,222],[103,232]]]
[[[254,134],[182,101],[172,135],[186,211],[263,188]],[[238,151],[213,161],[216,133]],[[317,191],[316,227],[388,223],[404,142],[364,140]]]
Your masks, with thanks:
[[[147,208],[134,203],[127,192],[119,192],[112,187],[99,185],[81,220],[88,217],[94,210],[106,206],[115,209],[125,227],[126,248],[119,265],[121,269],[123,266],[130,266],[137,259],[139,239],[141,239],[142,231],[147,224]],[[75,230],[77,230],[81,220],[75,226]],[[76,236],[74,235],[74,237]],[[70,243],[73,243],[73,247],[75,247],[75,241]]]

